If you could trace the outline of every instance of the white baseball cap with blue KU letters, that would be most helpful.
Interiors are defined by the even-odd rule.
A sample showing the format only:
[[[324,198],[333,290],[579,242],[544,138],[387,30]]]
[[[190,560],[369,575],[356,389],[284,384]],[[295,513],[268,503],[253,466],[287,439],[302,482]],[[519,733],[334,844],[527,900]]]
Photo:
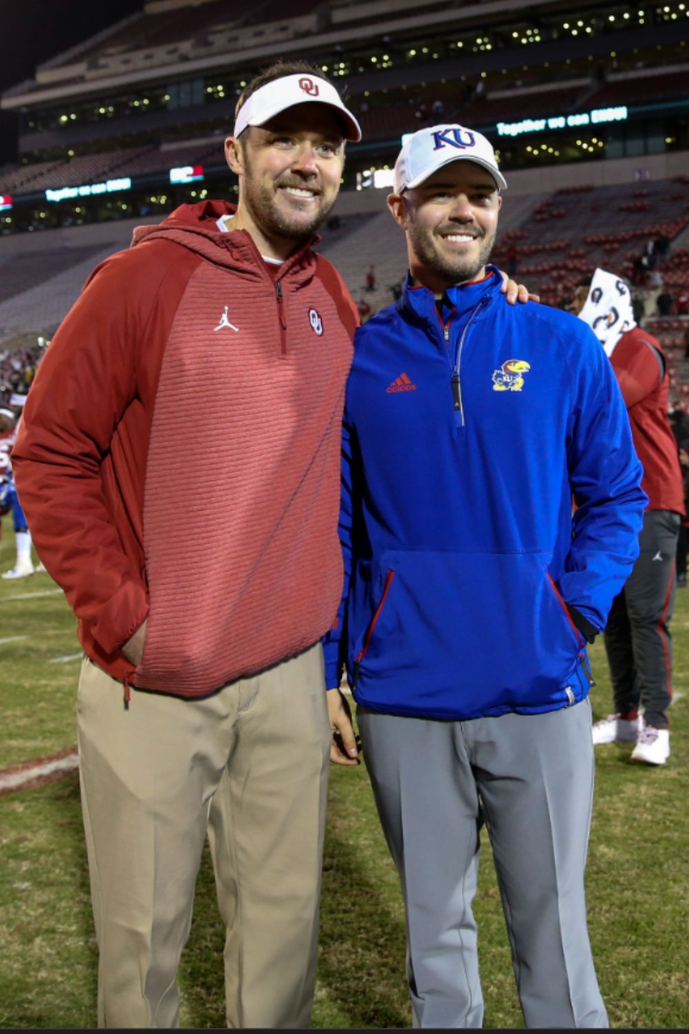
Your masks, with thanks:
[[[475,129],[451,123],[418,129],[408,138],[395,162],[395,193],[412,190],[438,169],[462,160],[488,169],[498,187],[507,189],[491,142]]]

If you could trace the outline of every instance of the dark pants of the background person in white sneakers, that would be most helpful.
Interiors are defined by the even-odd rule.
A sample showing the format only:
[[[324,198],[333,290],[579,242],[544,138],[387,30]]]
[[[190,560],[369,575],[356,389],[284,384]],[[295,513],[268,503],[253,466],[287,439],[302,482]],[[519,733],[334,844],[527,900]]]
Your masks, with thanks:
[[[672,697],[672,645],[669,621],[675,603],[675,572],[680,515],[647,510],[640,553],[625,587],[615,598],[605,628],[615,710],[644,707],[644,721],[666,729]]]

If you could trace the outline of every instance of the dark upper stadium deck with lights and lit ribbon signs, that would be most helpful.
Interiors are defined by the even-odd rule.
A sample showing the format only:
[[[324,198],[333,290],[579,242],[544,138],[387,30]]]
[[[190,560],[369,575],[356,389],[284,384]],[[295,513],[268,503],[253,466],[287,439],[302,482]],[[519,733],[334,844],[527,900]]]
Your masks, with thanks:
[[[507,171],[689,150],[688,39],[681,0],[294,0],[288,18],[280,0],[151,0],[2,96],[20,161],[0,170],[0,232],[169,207],[196,189],[173,168],[202,164],[230,191],[220,141],[244,84],[278,57],[346,88],[365,140],[345,186],[439,120],[486,132]]]

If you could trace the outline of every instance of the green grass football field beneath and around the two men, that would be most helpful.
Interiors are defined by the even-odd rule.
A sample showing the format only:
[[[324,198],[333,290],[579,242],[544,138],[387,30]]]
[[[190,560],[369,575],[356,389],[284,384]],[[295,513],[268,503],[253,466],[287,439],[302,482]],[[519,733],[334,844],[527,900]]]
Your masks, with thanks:
[[[12,566],[3,518],[0,571]],[[591,939],[614,1027],[689,1028],[689,590],[672,620],[667,765],[598,748],[588,868]],[[45,574],[0,581],[0,766],[75,742],[74,619]],[[602,644],[594,716],[609,709]],[[97,956],[75,773],[0,796],[0,1027],[93,1027]],[[475,902],[484,1026],[521,1027],[488,838]],[[223,1027],[223,930],[205,855],[180,973],[182,1026]],[[366,770],[332,769],[313,1026],[408,1027],[404,913]]]

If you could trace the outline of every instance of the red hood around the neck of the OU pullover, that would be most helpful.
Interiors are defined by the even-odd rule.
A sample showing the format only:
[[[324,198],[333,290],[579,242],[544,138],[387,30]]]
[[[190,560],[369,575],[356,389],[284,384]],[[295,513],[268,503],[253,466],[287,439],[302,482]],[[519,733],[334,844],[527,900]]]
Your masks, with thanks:
[[[162,222],[150,226],[136,226],[131,246],[136,247],[149,241],[173,241],[219,266],[244,271],[248,271],[250,267],[255,269],[257,265],[260,268],[260,254],[246,230],[228,233],[218,230],[218,219],[224,215],[233,215],[236,211],[236,205],[224,201],[201,201],[194,205],[180,205]],[[296,258],[302,260],[301,266],[304,269],[315,266],[311,246],[318,240],[318,237],[314,237],[297,248],[285,261],[284,272],[294,265]]]

